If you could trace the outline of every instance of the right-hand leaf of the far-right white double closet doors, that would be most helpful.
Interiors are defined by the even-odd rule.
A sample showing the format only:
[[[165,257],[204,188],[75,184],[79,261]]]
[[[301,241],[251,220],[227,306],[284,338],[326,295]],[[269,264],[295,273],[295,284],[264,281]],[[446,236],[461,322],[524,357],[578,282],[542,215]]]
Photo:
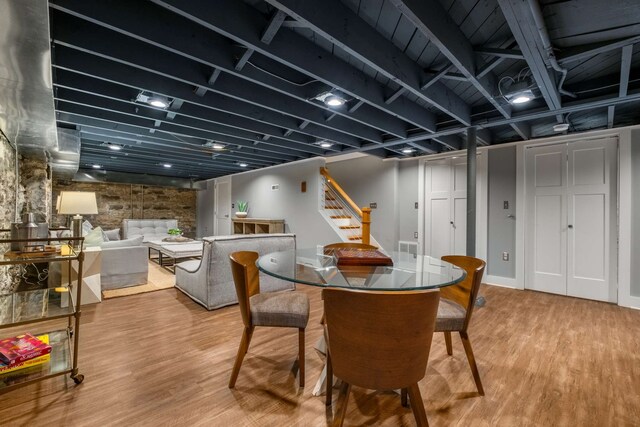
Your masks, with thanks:
[[[615,267],[615,140],[568,146],[568,281],[567,295],[600,301],[617,300]],[[614,257],[615,258],[615,257]]]

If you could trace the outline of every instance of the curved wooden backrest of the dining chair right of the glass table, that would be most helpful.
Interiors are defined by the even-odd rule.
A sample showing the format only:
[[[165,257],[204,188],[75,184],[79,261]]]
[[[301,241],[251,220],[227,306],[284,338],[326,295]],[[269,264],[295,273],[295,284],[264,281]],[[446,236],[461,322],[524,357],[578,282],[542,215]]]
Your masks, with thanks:
[[[478,296],[482,275],[487,263],[481,259],[464,255],[445,255],[442,260],[460,267],[467,273],[467,277],[463,281],[440,289],[442,298],[460,304],[467,311],[464,321],[464,329],[466,330],[471,320],[471,313],[473,312],[473,306]]]

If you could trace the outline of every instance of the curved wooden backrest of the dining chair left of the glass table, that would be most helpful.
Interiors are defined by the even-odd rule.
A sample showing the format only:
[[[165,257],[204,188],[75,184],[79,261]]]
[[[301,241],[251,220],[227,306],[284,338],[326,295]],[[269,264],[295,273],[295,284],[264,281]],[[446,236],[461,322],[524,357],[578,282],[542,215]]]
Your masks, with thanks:
[[[258,253],[251,251],[234,252],[229,255],[231,260],[231,272],[233,282],[236,285],[238,304],[244,325],[249,327],[251,323],[251,305],[249,298],[260,293],[260,277],[258,275]]]

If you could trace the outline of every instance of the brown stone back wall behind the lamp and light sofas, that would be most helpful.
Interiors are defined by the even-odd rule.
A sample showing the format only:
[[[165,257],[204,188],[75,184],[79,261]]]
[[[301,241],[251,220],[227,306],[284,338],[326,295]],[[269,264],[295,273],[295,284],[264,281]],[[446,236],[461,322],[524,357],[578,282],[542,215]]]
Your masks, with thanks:
[[[186,235],[196,232],[196,190],[54,179],[51,200],[55,201],[61,191],[95,192],[98,214],[85,217],[93,226],[104,230],[120,228],[123,219],[132,218],[177,219],[178,227]],[[54,214],[52,218],[54,225],[66,222],[66,215]]]

